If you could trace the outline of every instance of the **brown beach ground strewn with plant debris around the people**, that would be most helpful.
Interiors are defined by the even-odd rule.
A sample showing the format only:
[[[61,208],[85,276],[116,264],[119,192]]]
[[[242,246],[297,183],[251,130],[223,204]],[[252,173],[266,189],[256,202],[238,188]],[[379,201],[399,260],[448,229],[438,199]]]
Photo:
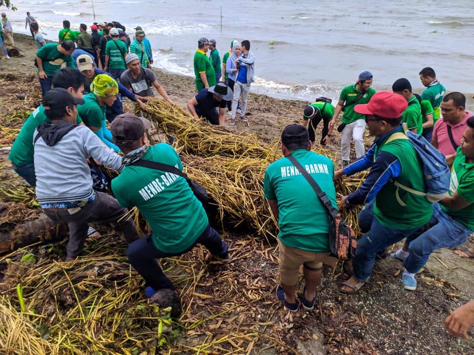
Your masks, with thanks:
[[[15,44],[20,50],[20,57],[10,60],[0,58],[0,180],[3,189],[6,186],[19,186],[22,191],[27,191],[26,182],[11,170],[7,159],[8,147],[27,117],[26,112],[40,104],[41,91],[33,65],[36,46],[31,36],[15,34]],[[186,107],[187,101],[196,94],[194,80],[165,71],[156,73],[159,83],[171,100]],[[18,94],[26,94],[25,100],[18,99]],[[302,111],[307,104],[303,101],[250,94],[247,105],[250,113],[247,117],[248,125],[237,122],[232,127],[227,121],[226,128],[237,133],[253,133],[262,142],[272,142],[279,137],[286,125],[301,122]],[[469,98],[468,106],[473,104],[473,99]],[[129,101],[125,101],[125,109],[132,110]],[[369,145],[372,139],[367,133],[365,138],[366,145]],[[316,136],[316,142],[318,141]],[[339,154],[337,134],[327,148],[333,154]],[[336,165],[339,163],[336,161]],[[4,199],[5,195],[1,196]],[[0,201],[0,204],[15,211],[1,214],[0,210],[0,233],[40,215],[40,209],[34,205],[34,201],[12,198]],[[113,231],[101,232],[109,238],[108,242],[115,241],[111,237]],[[455,255],[450,249],[442,249],[432,255],[419,275],[416,292],[402,289],[399,273],[403,266],[390,258],[377,261],[370,283],[357,295],[348,296],[338,292],[339,285],[347,278],[342,267],[325,270],[318,293],[317,310],[293,316],[280,306],[273,292],[278,258],[275,245],[256,240],[252,235],[241,231],[224,232],[236,260],[223,270],[206,269],[206,266],[200,264],[198,270],[191,270],[192,267],[188,265],[194,265],[194,260],[202,258],[202,250],[195,250],[177,260],[163,261],[165,267],[172,269],[170,274],[180,281],[178,289],[185,293],[183,304],[189,315],[186,320],[182,320],[182,324],[186,326],[173,328],[174,335],[167,333],[167,340],[162,348],[157,348],[156,353],[148,352],[146,344],[140,343],[134,345],[130,354],[197,354],[199,351],[199,354],[267,355],[474,353],[472,340],[456,340],[447,334],[443,326],[443,320],[451,310],[474,299],[474,264]],[[93,243],[99,242],[89,242]],[[467,246],[474,246],[473,236]],[[64,248],[64,242],[61,248]],[[8,255],[8,258],[18,262],[27,252],[40,255],[39,249],[38,246],[26,248]],[[122,269],[118,271],[125,275],[128,270],[123,265],[128,264],[123,262],[123,245],[117,250],[122,255],[115,255],[114,260],[122,263]],[[41,252],[46,253],[44,250]],[[16,299],[13,296],[16,294],[15,283],[18,280],[5,258],[0,256],[0,297],[3,295]],[[44,264],[46,261],[39,260],[38,263]],[[58,257],[54,260],[56,261],[59,261]],[[213,271],[216,272],[215,276],[209,277],[209,273]],[[195,288],[186,293],[184,290],[188,290],[188,283],[191,281],[182,275],[193,273],[203,279],[197,278]],[[204,279],[204,276],[207,278]],[[140,282],[135,275],[133,286],[138,288],[137,284]],[[238,297],[212,297],[216,290],[224,287],[223,284],[232,284],[237,289]],[[243,292],[246,290],[248,292]],[[27,299],[28,292],[33,290],[25,290]],[[128,306],[135,307],[139,297],[141,296],[138,295],[133,300],[135,303]],[[71,302],[75,304],[74,297]],[[214,314],[213,310],[216,308],[222,314]],[[0,324],[1,322],[0,317]],[[54,322],[51,320],[51,323]],[[189,324],[193,324],[193,327]],[[80,329],[78,327],[75,331],[80,333]],[[117,354],[125,352],[117,350]]]

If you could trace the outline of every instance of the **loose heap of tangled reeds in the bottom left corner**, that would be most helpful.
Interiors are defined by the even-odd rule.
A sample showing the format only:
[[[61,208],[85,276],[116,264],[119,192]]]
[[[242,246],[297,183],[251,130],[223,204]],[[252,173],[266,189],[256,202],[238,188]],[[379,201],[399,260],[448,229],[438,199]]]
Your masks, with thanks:
[[[155,354],[171,328],[169,309],[143,298],[123,249],[102,244],[69,263],[34,254],[11,262],[8,299],[0,298],[1,354]]]

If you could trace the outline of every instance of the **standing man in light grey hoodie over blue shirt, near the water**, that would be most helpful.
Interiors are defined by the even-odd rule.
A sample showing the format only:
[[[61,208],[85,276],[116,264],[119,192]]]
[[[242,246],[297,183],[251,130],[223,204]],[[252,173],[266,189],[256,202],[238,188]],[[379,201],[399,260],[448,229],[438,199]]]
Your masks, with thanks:
[[[247,122],[245,118],[245,107],[247,106],[247,96],[250,91],[250,84],[255,81],[255,55],[250,50],[250,42],[244,40],[240,43],[242,55],[236,59],[237,80],[234,85],[234,99],[232,100],[231,126],[236,124],[237,104],[240,100],[240,120]]]

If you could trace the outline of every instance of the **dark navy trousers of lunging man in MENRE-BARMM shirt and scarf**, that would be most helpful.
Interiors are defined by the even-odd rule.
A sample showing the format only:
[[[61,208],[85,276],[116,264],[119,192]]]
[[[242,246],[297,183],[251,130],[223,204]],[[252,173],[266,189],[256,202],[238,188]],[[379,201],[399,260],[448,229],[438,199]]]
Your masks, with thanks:
[[[202,244],[213,255],[224,256],[227,254],[227,244],[221,239],[219,233],[208,224],[204,232],[186,250],[177,253],[158,250],[150,235],[130,244],[127,249],[127,257],[133,268],[145,279],[147,286],[152,287],[155,291],[162,288],[174,289],[173,284],[164,275],[155,259],[185,254],[197,244]]]

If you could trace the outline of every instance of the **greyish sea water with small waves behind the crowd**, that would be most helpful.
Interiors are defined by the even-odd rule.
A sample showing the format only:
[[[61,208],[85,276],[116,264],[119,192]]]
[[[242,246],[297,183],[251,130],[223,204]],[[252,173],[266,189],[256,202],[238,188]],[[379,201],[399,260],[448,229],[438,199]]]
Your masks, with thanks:
[[[221,58],[232,39],[248,39],[256,55],[252,91],[280,98],[337,99],[364,70],[373,73],[376,90],[390,90],[406,77],[421,92],[418,72],[426,66],[448,91],[474,92],[473,0],[16,0],[14,5],[18,11],[8,11],[14,32],[28,33],[30,11],[53,40],[64,19],[73,30],[80,23],[118,21],[132,39],[133,28],[142,26],[154,66],[190,76],[199,37],[216,39]]]

